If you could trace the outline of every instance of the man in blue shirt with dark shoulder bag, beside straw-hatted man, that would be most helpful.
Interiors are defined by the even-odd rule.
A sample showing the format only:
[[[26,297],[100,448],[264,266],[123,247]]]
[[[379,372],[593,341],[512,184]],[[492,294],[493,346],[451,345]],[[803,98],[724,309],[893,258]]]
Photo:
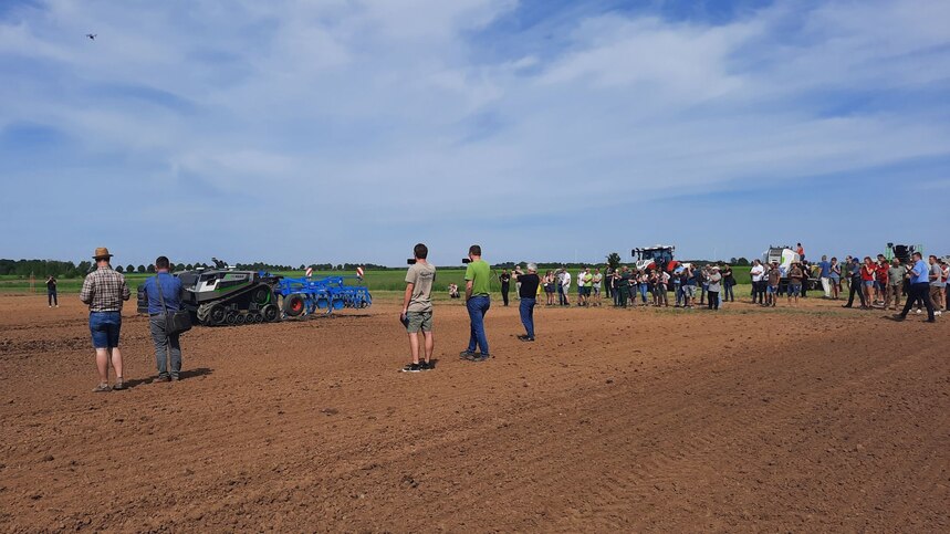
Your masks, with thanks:
[[[152,342],[155,344],[155,364],[158,367],[158,377],[152,380],[153,384],[178,380],[181,373],[179,334],[167,332],[166,320],[181,308],[181,297],[185,290],[181,286],[181,281],[168,272],[171,263],[168,258],[158,256],[155,260],[155,276],[149,278],[143,284],[145,295],[148,299],[148,326],[152,331]],[[161,296],[165,297],[164,306],[158,295],[159,286],[161,286]],[[168,359],[171,360],[170,373],[166,365]]]

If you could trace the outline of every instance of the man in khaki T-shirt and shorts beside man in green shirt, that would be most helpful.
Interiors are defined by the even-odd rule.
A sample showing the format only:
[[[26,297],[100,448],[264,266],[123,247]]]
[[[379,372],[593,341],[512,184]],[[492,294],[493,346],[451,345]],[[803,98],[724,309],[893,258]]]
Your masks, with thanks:
[[[419,243],[413,249],[416,263],[406,272],[406,293],[403,296],[403,323],[409,334],[409,349],[413,352],[413,363],[403,368],[404,373],[419,373],[432,368],[432,349],[436,339],[432,336],[432,283],[436,281],[436,268],[426,261],[429,249]],[[419,332],[426,339],[426,359],[419,363]]]

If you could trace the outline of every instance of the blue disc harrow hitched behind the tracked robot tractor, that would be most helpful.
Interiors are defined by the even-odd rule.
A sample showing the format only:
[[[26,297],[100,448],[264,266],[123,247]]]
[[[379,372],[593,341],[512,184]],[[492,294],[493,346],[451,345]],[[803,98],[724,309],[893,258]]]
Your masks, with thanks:
[[[274,294],[283,301],[283,316],[299,317],[317,312],[331,314],[345,307],[368,307],[373,304],[369,290],[362,285],[346,285],[346,279],[358,276],[327,276],[325,279],[280,279]]]

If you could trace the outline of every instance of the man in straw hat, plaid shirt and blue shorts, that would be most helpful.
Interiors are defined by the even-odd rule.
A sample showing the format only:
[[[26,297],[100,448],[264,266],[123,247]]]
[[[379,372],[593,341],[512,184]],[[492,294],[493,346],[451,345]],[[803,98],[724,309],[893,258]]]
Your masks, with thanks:
[[[125,276],[109,265],[108,249],[100,247],[93,254],[96,270],[86,275],[80,300],[90,306],[90,332],[93,348],[96,353],[98,368],[98,386],[94,392],[105,392],[111,389],[125,389],[122,379],[122,353],[118,352],[118,334],[122,329],[122,302],[127,301],[132,293],[125,283]],[[115,369],[115,385],[108,386],[108,362]]]

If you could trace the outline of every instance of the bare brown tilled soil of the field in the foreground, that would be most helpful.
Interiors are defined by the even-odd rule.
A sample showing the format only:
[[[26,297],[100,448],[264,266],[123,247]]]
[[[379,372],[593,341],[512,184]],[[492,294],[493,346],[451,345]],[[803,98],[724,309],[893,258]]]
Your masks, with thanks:
[[[404,374],[394,303],[184,338],[96,384],[74,295],[0,296],[0,530],[950,531],[950,318],[518,308]]]

